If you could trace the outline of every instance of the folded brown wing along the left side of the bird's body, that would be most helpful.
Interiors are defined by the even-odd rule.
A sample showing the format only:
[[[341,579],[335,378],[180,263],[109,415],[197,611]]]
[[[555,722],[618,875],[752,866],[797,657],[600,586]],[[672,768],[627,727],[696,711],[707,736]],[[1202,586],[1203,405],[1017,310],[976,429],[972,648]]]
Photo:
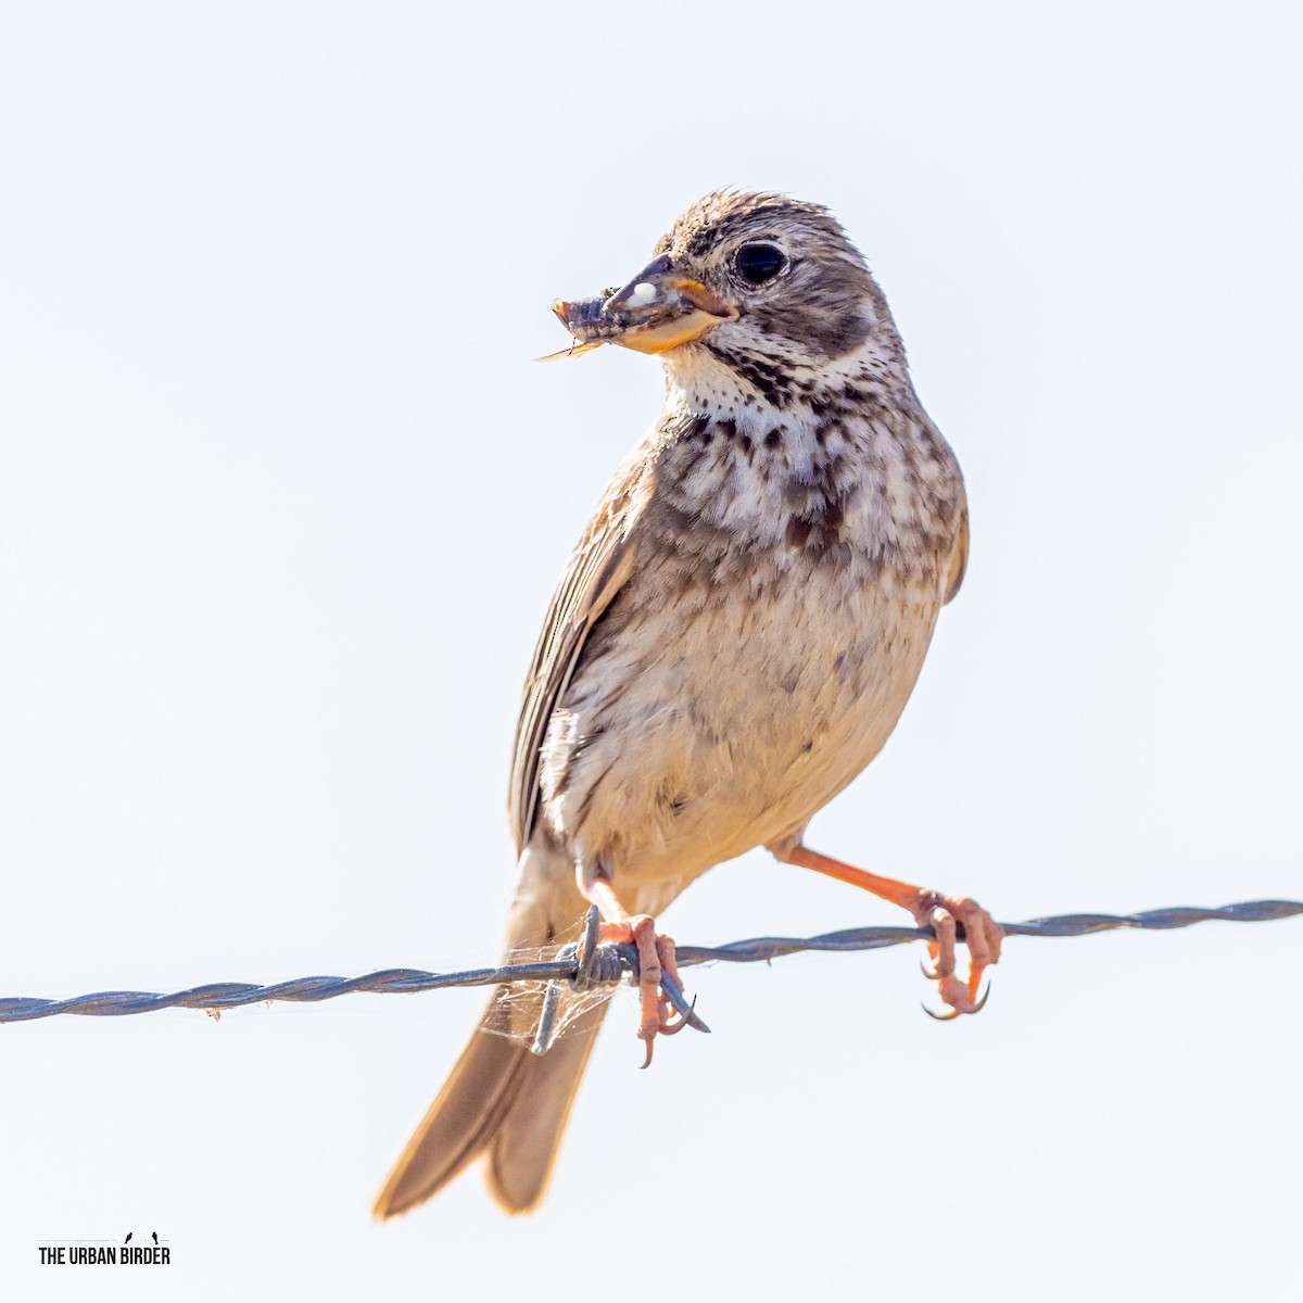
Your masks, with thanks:
[[[644,455],[638,455],[644,453]],[[650,499],[653,473],[640,448],[616,473],[579,546],[571,554],[525,679],[511,765],[507,814],[516,853],[534,829],[538,764],[547,723],[566,691],[584,644],[633,569],[632,529]]]

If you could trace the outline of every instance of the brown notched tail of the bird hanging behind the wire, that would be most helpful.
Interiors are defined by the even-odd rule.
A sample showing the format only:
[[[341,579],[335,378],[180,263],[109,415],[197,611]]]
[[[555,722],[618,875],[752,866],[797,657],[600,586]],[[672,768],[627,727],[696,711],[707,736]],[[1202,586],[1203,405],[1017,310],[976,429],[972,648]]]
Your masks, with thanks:
[[[573,870],[567,877],[564,886],[575,900],[560,894],[567,896],[564,908],[575,908],[577,917],[582,902]],[[529,890],[524,876],[508,924],[508,955],[554,932],[541,917],[541,898],[551,913],[560,904],[556,896],[555,890]],[[538,993],[506,988],[494,993],[470,1044],[384,1182],[377,1217],[395,1217],[423,1203],[481,1154],[487,1157],[489,1190],[507,1212],[529,1212],[538,1204],[607,1001],[582,1007],[545,1054],[534,1054],[529,1028],[541,1006]]]

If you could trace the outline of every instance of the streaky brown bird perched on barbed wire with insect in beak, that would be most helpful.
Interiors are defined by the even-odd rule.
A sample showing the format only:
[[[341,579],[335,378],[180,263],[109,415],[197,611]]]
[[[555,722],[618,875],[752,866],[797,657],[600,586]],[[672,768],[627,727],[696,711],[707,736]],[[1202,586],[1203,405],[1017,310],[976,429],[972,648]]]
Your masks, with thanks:
[[[976,1012],[1002,939],[986,909],[805,844],[894,730],[968,562],[959,464],[864,257],[821,205],[717,190],[624,285],[552,310],[566,354],[657,356],[666,399],[571,554],[526,676],[507,954],[575,937],[597,906],[601,939],[637,947],[646,1066],[685,1022],[655,917],[765,847],[908,909],[936,938],[934,1016]],[[495,990],[377,1217],[481,1157],[506,1212],[538,1205],[609,1005],[577,1005],[534,1054],[541,1001]]]

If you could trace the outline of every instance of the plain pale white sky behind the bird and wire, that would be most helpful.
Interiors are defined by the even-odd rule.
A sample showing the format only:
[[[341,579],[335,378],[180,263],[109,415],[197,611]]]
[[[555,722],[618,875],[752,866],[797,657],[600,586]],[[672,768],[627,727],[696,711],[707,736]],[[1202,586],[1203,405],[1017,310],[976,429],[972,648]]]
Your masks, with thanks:
[[[812,840],[1003,919],[1303,895],[1298,36],[1280,5],[0,10],[0,994],[495,955],[520,680],[658,410],[564,344],[740,184],[831,205],[968,477]],[[761,855],[709,943],[903,916]],[[1303,924],[627,993],[547,1204],[370,1200],[477,992],[0,1028],[12,1298],[1303,1298]],[[171,1242],[173,1265],[36,1267]]]

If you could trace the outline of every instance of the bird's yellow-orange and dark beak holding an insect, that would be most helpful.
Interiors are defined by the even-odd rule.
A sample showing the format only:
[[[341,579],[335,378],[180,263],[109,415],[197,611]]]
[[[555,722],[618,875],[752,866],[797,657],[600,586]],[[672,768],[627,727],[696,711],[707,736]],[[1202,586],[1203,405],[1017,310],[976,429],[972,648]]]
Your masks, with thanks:
[[[700,280],[679,275],[668,258],[658,258],[623,289],[573,304],[558,298],[552,311],[580,345],[619,344],[638,353],[666,353],[737,319],[736,308]]]

